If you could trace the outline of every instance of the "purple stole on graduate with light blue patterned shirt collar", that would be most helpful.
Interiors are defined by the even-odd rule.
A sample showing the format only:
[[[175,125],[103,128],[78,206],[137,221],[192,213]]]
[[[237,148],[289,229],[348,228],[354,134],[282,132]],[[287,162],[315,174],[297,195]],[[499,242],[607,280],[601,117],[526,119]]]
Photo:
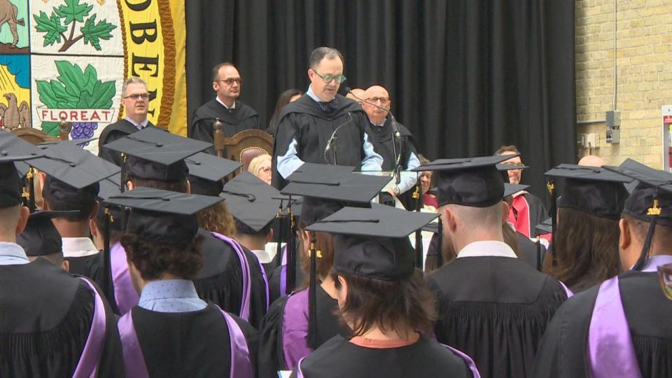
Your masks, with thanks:
[[[230,349],[231,349],[231,378],[252,378],[252,360],[250,351],[247,347],[247,341],[243,331],[240,329],[232,316],[226,313],[220,307],[226,326],[229,331]],[[138,335],[133,325],[131,311],[127,312],[119,319],[119,335],[123,346],[124,367],[126,377],[128,378],[148,378],[149,372],[145,358],[142,355]]]

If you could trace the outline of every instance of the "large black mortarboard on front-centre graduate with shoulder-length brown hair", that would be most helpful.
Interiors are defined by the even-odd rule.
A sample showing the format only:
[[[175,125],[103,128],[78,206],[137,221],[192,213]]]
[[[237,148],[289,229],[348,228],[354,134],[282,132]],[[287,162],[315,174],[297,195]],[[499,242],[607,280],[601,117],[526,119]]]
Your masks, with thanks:
[[[335,234],[337,271],[393,281],[415,269],[415,250],[407,236],[437,216],[384,206],[344,207],[307,230]]]

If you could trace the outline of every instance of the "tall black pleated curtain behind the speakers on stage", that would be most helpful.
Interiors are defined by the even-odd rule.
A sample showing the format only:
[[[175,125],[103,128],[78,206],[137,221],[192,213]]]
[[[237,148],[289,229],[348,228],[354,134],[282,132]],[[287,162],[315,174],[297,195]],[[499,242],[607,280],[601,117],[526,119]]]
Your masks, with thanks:
[[[574,2],[553,0],[189,0],[190,115],[214,97],[211,67],[234,63],[241,100],[267,123],[278,95],[305,91],[320,45],[345,56],[347,81],[383,85],[430,159],[514,144],[524,183],[575,162]]]

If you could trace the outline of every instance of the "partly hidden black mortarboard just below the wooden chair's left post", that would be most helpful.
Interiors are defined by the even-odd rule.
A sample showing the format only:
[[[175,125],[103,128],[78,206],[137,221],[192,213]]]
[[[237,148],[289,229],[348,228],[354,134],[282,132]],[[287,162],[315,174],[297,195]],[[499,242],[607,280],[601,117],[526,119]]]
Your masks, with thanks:
[[[219,195],[224,185],[222,179],[243,165],[209,153],[197,153],[184,161],[189,169],[191,193],[199,195]]]

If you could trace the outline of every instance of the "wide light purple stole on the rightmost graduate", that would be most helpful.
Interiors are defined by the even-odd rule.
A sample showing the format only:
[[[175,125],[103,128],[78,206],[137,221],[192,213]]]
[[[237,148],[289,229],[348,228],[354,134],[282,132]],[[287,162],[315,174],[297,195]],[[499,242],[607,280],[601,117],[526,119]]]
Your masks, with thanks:
[[[672,256],[653,256],[642,272],[657,272]],[[598,290],[588,331],[587,359],[592,378],[640,378],[639,363],[625,318],[618,276]]]

